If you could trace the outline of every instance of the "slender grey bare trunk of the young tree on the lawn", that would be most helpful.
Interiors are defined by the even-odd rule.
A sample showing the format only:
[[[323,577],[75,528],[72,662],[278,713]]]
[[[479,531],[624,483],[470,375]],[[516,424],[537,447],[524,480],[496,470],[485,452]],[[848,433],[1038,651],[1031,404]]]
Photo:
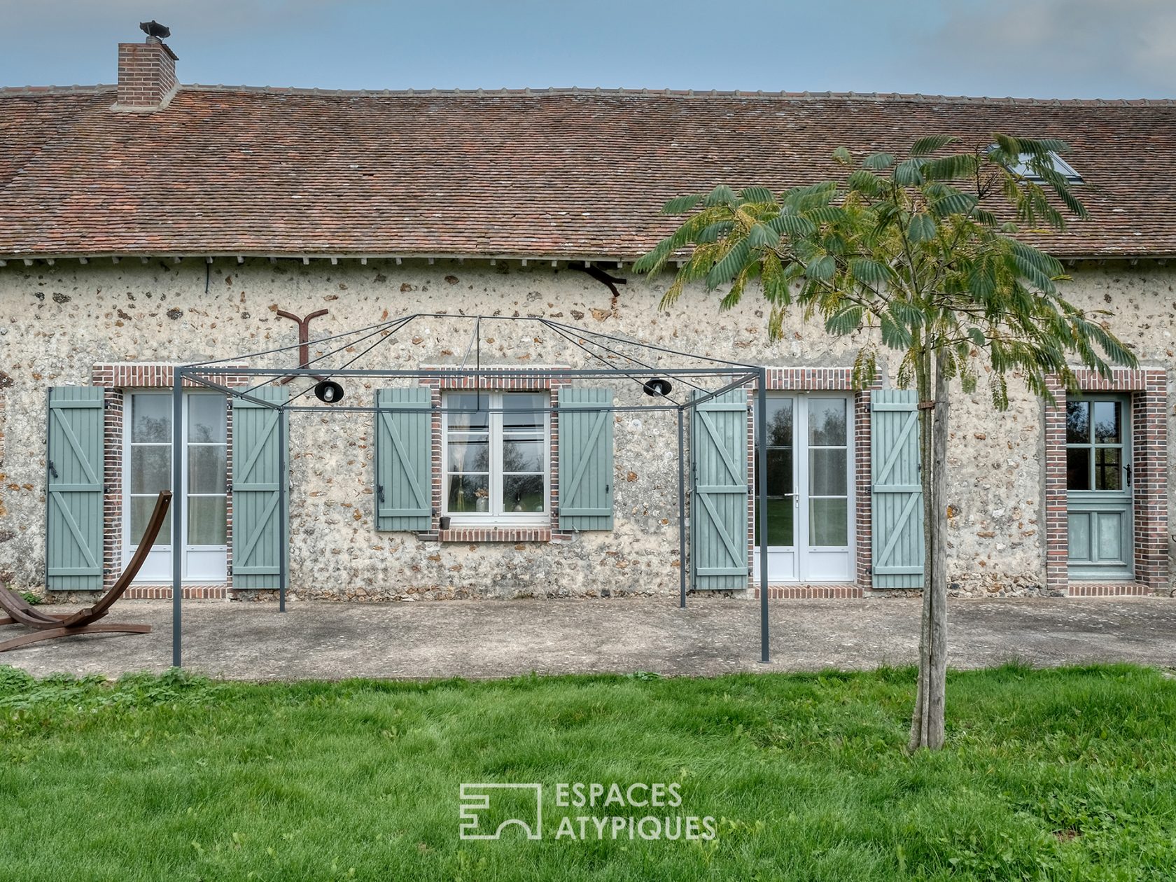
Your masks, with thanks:
[[[918,641],[918,689],[911,715],[910,749],[943,747],[943,706],[948,668],[947,457],[948,379],[942,355],[935,360],[930,401],[930,354],[918,375],[918,429],[923,487],[923,622]]]

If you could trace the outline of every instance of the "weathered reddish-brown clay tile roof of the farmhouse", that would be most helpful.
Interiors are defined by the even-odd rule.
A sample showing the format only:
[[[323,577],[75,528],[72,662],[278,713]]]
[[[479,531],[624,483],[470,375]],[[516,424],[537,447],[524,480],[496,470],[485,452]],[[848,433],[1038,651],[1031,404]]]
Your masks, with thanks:
[[[112,86],[0,89],[0,256],[632,259],[670,228],[670,196],[995,131],[1074,147],[1091,219],[1055,254],[1176,254],[1171,101],[185,86],[156,113],[112,103]]]

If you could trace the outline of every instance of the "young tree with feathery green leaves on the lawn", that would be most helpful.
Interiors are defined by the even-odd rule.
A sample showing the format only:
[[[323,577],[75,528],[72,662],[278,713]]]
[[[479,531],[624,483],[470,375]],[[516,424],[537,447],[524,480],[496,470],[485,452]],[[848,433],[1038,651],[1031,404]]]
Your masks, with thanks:
[[[876,373],[880,347],[901,355],[897,382],[918,396],[923,489],[923,620],[910,749],[943,744],[947,673],[948,386],[976,387],[987,365],[993,405],[1009,405],[1008,375],[1051,400],[1047,377],[1074,388],[1070,360],[1105,374],[1136,363],[1105,327],[1056,282],[1062,265],[1024,239],[1065,227],[1062,211],[1085,218],[1055,156],[1058,140],[1010,138],[960,152],[958,139],[916,141],[901,160],[874,153],[854,167],[848,149],[834,160],[842,180],[766,187],[670,200],[666,214],[688,215],[637,261],[656,273],[684,260],[662,298],[669,307],[687,285],[726,289],[720,308],[759,282],[779,339],[784,315],[818,316],[836,335],[863,334],[854,382]],[[1023,233],[1024,239],[1018,238]]]

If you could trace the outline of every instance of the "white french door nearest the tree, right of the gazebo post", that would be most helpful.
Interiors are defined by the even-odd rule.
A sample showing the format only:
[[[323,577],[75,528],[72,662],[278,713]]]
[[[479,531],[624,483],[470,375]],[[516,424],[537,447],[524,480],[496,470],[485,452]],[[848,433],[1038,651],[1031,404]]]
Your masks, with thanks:
[[[756,414],[756,419],[763,419]],[[768,393],[768,580],[854,579],[854,433],[848,395]],[[756,433],[759,445],[759,433]],[[759,448],[755,573],[760,572]]]

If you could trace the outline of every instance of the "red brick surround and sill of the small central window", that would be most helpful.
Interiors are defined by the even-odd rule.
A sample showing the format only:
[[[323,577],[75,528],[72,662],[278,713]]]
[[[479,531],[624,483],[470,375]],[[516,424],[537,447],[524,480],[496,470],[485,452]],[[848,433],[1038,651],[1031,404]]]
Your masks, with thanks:
[[[509,375],[502,372],[509,370]],[[441,529],[440,513],[443,505],[445,477],[441,462],[442,437],[441,437],[441,396],[449,390],[475,390],[482,392],[548,392],[552,396],[552,407],[559,407],[560,389],[572,385],[572,381],[561,376],[559,368],[537,368],[533,373],[520,374],[517,368],[482,368],[479,373],[462,376],[446,377],[421,377],[421,385],[432,390],[433,403],[433,526],[427,533],[419,533],[423,540],[437,542],[562,542],[572,539],[572,534],[560,530],[560,421],[550,421],[550,445],[548,449],[549,469],[549,496],[548,512],[549,522],[546,524],[527,526],[490,526],[486,527],[453,527],[447,530]]]

